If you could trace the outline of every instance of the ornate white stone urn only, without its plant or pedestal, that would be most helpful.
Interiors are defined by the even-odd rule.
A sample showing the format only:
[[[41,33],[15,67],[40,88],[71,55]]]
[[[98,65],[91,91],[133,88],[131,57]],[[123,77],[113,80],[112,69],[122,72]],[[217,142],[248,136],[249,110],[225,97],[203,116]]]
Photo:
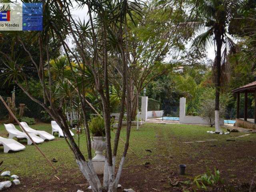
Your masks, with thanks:
[[[106,137],[93,137],[91,144],[95,150],[96,156],[92,158],[95,161],[105,161],[105,156],[102,154],[106,149]]]

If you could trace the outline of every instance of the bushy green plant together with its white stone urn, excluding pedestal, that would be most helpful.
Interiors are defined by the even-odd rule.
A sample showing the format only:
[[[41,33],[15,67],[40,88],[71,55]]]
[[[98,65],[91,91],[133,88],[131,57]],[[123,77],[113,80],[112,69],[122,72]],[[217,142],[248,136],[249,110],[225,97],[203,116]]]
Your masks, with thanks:
[[[103,150],[106,149],[105,142],[105,122],[101,116],[91,118],[89,122],[89,129],[92,133],[92,148],[95,150],[96,156],[92,159],[94,161],[105,161]]]

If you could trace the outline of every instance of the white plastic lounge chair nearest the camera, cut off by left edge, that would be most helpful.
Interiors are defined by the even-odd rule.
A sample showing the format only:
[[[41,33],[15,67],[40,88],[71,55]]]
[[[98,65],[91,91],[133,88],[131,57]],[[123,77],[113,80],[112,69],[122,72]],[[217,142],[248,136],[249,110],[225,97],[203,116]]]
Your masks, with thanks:
[[[24,150],[26,147],[14,139],[7,139],[0,136],[0,145],[4,146],[4,153],[12,151]]]

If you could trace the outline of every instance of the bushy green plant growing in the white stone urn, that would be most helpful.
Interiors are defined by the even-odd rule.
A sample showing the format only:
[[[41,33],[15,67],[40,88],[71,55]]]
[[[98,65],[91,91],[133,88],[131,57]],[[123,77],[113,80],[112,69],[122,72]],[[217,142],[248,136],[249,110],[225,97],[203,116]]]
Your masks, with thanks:
[[[101,116],[91,118],[89,129],[93,136],[105,136],[105,122]]]

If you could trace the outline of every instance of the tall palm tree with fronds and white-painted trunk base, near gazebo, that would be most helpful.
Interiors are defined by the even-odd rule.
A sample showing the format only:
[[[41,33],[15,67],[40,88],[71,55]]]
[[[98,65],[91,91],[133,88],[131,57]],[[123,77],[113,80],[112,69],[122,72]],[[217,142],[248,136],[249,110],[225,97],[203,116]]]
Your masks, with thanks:
[[[236,51],[236,44],[228,37],[227,27],[233,14],[246,0],[192,0],[191,15],[195,15],[193,23],[206,29],[198,35],[192,47],[206,49],[214,44],[214,81],[215,81],[215,132],[221,132],[219,122],[221,78],[226,76],[228,51]],[[195,22],[196,21],[196,22]],[[202,30],[202,28],[200,28]]]

